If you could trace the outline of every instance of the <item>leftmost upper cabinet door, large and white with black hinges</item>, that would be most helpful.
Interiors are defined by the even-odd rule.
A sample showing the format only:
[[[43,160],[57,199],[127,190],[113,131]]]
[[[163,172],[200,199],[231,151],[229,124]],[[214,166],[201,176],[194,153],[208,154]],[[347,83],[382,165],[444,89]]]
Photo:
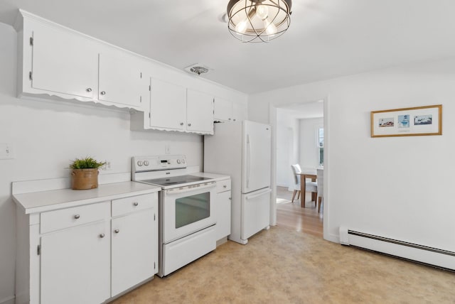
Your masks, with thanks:
[[[74,33],[38,27],[33,31],[32,87],[93,99],[98,83],[95,43]]]

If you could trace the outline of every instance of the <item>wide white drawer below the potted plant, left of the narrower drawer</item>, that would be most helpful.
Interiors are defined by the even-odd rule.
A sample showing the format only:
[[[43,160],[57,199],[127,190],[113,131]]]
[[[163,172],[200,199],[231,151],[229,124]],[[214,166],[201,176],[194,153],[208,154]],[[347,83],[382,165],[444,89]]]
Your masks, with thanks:
[[[110,217],[110,203],[98,202],[41,213],[41,233],[78,226]]]

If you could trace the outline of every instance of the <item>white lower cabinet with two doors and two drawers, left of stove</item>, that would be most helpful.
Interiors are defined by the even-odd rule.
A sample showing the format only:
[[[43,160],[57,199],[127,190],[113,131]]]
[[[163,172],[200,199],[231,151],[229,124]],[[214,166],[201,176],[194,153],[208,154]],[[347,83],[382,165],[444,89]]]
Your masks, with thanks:
[[[158,272],[158,192],[25,214],[16,304],[99,304]]]

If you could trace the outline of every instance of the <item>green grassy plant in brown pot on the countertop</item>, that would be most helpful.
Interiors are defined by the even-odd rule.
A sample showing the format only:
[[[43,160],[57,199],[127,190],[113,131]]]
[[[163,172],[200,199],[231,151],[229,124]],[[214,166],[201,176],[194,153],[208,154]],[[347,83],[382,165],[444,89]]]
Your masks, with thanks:
[[[85,190],[98,188],[98,168],[104,163],[96,161],[91,157],[76,158],[70,164],[73,169],[71,173],[71,188],[73,190]]]

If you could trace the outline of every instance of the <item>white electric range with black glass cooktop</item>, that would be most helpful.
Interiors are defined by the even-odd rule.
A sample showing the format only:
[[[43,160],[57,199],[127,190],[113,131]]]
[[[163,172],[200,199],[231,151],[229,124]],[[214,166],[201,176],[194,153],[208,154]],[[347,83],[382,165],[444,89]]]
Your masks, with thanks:
[[[216,248],[216,181],[191,171],[183,155],[132,158],[132,180],[161,187],[158,272],[161,277]]]

